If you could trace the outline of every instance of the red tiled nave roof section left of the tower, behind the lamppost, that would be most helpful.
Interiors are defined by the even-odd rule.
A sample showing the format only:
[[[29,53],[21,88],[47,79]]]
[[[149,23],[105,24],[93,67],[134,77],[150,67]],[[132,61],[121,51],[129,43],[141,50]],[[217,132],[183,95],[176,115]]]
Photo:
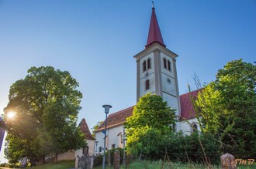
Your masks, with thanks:
[[[107,120],[107,128],[115,127],[120,124],[123,124],[126,121],[127,117],[132,116],[133,107],[134,106],[130,106],[129,108],[127,108],[125,110],[120,110],[116,113],[109,114],[108,120]],[[96,131],[104,130],[104,129],[105,129],[105,120]]]

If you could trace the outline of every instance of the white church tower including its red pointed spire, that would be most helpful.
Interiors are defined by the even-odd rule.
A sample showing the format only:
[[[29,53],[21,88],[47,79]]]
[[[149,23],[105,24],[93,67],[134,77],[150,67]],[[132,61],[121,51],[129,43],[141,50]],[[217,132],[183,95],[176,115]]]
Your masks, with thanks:
[[[153,6],[147,44],[134,56],[137,59],[137,101],[147,93],[157,94],[180,116],[176,57],[178,55],[164,45]]]

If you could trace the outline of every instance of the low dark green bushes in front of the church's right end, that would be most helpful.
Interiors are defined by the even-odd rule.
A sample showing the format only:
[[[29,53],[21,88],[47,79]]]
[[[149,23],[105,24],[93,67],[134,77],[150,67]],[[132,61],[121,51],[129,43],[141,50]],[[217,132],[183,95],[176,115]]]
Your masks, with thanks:
[[[182,132],[170,132],[169,134],[161,136],[157,143],[159,145],[157,150],[151,149],[151,151],[147,153],[141,152],[141,157],[143,160],[147,161],[156,161],[159,159],[163,161],[166,156],[166,150],[170,161],[182,163],[190,161],[197,164],[204,164],[203,161],[205,159],[202,147],[199,143],[199,138],[207,159],[209,158],[212,164],[219,164],[220,144],[212,134],[192,133],[191,135],[185,135],[182,134]]]

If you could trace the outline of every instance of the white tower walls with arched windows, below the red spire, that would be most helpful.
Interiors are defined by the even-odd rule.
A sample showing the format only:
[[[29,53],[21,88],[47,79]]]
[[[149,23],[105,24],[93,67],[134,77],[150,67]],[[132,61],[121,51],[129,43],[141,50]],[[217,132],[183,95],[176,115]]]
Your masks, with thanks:
[[[178,78],[176,70],[176,55],[159,43],[144,49],[134,58],[137,59],[137,101],[147,93],[162,96],[171,109],[176,110],[177,119],[181,115],[178,93]],[[147,61],[150,59],[150,69]],[[146,61],[146,69],[144,62]],[[147,80],[149,88],[147,89]],[[176,123],[176,130],[181,130],[180,123]]]

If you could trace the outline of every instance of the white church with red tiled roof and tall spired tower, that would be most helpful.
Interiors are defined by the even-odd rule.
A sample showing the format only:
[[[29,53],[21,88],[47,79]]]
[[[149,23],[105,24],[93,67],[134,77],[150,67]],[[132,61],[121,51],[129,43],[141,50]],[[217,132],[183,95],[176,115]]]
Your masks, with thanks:
[[[179,95],[176,69],[178,55],[164,45],[154,6],[152,7],[147,44],[144,50],[137,53],[133,58],[136,59],[137,63],[137,101],[147,93],[162,96],[168,106],[176,110],[176,131],[182,130],[185,134],[190,134],[193,130],[199,130],[191,102],[191,96],[195,97],[199,90]],[[106,130],[106,150],[125,147],[123,123],[127,117],[132,116],[133,107],[130,106],[109,114]],[[94,154],[102,154],[103,152],[105,123],[104,120],[95,132]]]

